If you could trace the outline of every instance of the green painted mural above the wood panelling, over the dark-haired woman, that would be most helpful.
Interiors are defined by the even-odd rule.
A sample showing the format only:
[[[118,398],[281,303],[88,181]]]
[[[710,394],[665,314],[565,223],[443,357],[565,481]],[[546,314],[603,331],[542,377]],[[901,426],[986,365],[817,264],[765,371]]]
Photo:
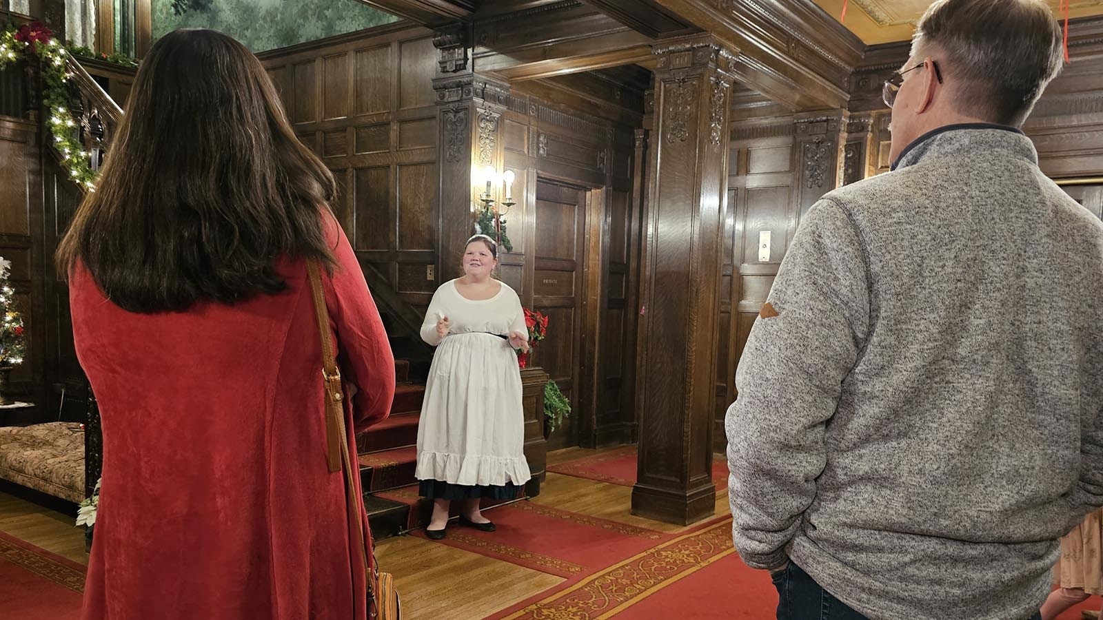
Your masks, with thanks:
[[[224,32],[254,52],[355,32],[398,18],[357,0],[208,0],[182,15],[172,0],[152,0],[153,39],[178,28]]]

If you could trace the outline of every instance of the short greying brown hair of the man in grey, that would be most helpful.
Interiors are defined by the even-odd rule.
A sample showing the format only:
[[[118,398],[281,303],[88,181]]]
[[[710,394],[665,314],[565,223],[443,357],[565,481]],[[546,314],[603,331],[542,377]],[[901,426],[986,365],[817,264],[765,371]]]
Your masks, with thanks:
[[[959,111],[1013,127],[1063,61],[1061,26],[1041,0],[936,0],[915,28],[920,51],[939,63]]]

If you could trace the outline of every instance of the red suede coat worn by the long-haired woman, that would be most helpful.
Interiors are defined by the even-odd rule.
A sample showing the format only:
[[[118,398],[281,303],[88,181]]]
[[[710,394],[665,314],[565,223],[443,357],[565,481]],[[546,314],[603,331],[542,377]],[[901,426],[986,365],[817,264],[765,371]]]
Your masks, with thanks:
[[[329,228],[340,266],[325,300],[346,393],[357,388],[346,419],[362,429],[387,416],[395,365],[349,240]],[[306,265],[278,269],[283,293],[158,314],[127,312],[74,272],[76,351],[104,429],[83,618],[365,618],[342,473],[326,469]]]

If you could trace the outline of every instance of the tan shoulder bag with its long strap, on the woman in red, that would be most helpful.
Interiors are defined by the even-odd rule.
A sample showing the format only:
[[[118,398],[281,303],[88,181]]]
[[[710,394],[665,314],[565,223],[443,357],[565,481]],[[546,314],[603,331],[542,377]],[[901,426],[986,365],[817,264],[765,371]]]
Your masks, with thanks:
[[[317,260],[307,260],[307,274],[310,277],[310,289],[314,299],[318,332],[322,339],[326,461],[330,473],[344,470],[345,504],[349,506],[349,524],[354,536],[352,544],[360,549],[360,559],[364,563],[364,575],[367,577],[367,617],[377,620],[399,620],[401,612],[394,579],[389,573],[378,571],[378,563],[367,560],[367,545],[364,541],[364,532],[367,528],[364,527],[363,513],[356,498],[356,482],[353,479],[354,475],[358,475],[360,471],[353,468],[352,458],[349,455],[349,438],[345,434],[344,410],[341,406],[344,400],[344,389],[341,385],[341,372],[338,371],[336,356],[333,354],[330,318],[325,309],[325,293],[322,292],[321,268]]]

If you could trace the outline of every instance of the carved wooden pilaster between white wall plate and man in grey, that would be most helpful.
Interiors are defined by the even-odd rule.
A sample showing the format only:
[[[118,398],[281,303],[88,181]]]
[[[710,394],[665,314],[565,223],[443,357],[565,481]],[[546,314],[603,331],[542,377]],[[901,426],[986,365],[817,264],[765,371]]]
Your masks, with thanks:
[[[795,119],[796,204],[797,213],[803,217],[820,196],[843,184],[843,149],[849,113],[804,113],[796,115]]]

